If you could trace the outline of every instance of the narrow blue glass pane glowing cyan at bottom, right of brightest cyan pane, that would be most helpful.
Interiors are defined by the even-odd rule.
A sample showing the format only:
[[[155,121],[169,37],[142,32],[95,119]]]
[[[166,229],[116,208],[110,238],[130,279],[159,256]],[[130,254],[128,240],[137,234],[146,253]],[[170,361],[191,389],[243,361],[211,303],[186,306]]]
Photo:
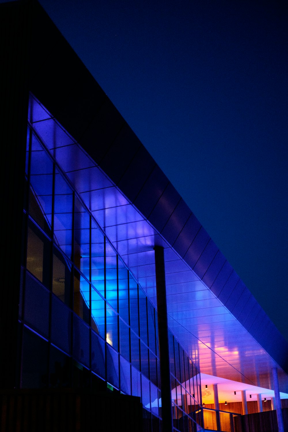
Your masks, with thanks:
[[[106,300],[117,311],[117,255],[106,241]]]

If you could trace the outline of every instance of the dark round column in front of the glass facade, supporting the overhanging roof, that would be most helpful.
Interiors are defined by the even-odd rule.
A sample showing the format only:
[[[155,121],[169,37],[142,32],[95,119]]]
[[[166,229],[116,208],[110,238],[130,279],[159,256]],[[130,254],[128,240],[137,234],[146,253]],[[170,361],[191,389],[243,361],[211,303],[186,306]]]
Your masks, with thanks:
[[[161,376],[162,430],[165,432],[173,432],[164,248],[162,246],[155,246],[154,251]]]

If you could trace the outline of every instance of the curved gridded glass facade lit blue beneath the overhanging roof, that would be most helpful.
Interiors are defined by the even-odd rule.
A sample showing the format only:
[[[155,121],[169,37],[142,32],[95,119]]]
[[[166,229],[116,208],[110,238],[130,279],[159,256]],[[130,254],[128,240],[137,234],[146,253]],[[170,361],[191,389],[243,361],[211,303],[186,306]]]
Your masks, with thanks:
[[[19,387],[138,396],[146,429],[158,431],[157,311],[41,142],[35,125],[45,112],[34,102],[26,143]],[[65,147],[72,138],[51,123],[52,147]],[[71,157],[67,164],[75,164]],[[202,430],[199,371],[170,331],[169,346],[174,430]]]

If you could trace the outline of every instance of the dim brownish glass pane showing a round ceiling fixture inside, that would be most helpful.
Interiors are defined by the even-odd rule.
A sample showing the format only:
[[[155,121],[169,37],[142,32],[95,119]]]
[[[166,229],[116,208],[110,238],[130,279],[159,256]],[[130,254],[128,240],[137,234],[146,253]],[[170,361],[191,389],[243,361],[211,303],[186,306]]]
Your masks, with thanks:
[[[53,249],[52,291],[63,303],[71,305],[71,263],[57,249]]]

